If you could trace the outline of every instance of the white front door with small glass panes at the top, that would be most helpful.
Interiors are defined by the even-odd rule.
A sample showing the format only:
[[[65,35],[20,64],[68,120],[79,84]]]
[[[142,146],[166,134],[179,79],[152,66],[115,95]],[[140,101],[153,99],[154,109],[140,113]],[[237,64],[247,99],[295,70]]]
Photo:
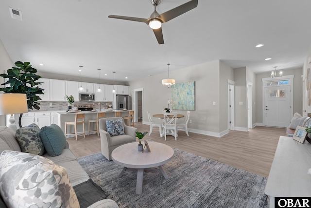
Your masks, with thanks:
[[[265,125],[287,127],[291,121],[290,86],[265,88]]]

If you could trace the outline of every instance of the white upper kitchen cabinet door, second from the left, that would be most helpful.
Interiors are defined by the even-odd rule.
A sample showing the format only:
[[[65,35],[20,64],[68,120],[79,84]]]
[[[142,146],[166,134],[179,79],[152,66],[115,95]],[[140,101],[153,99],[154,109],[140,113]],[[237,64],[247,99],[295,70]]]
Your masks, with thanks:
[[[66,81],[50,79],[51,101],[66,101]]]

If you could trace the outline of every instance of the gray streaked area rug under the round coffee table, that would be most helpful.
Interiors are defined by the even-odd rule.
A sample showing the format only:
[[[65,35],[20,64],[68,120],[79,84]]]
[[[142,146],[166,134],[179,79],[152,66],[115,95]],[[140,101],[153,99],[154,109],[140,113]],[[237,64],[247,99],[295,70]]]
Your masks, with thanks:
[[[78,161],[120,208],[268,208],[265,177],[173,150],[172,160],[163,165],[169,179],[158,172],[145,172],[142,195],[135,193],[137,173],[125,171],[119,178],[123,167],[102,153]]]

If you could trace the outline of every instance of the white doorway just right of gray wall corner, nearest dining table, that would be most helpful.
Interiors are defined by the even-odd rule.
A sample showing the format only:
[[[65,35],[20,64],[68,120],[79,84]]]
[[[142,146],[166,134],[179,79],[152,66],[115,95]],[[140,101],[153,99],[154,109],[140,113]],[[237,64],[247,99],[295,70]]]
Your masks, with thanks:
[[[228,130],[235,130],[234,81],[228,79]]]

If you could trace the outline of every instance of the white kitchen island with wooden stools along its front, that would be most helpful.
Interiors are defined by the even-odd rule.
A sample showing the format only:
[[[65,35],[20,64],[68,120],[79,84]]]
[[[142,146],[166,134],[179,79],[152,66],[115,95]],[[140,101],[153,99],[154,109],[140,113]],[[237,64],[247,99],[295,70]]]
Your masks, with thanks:
[[[88,120],[94,120],[97,118],[97,113],[100,111],[81,111],[81,112],[77,112],[77,113],[85,113],[85,131],[86,134],[88,134]],[[101,111],[101,112],[105,112],[105,117],[109,118],[109,117],[115,117],[115,113],[116,112],[121,112],[121,117],[124,116],[128,116],[128,112],[129,110],[113,110],[113,111]],[[75,116],[77,114],[76,112],[57,112],[58,115],[58,126],[60,126],[60,128],[63,130],[63,132],[65,132],[65,122],[67,121],[74,121]],[[82,129],[82,125],[78,125],[77,126],[77,131],[78,132],[83,132]],[[95,127],[95,123],[91,123],[90,126],[91,130],[92,129],[96,129]],[[72,133],[73,132],[73,125],[68,125],[67,126],[67,132],[68,133]],[[96,132],[90,132],[90,133],[96,133]],[[73,137],[73,136],[72,136]]]

